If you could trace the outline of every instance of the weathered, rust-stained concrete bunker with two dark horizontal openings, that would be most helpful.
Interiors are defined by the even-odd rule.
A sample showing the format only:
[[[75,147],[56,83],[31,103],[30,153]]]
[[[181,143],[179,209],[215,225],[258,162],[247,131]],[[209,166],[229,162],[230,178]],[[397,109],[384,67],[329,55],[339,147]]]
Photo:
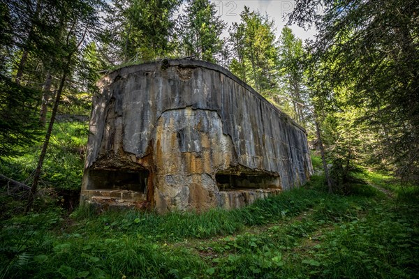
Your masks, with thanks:
[[[159,212],[234,208],[312,172],[304,130],[212,63],[129,66],[99,86],[82,201],[108,196]]]

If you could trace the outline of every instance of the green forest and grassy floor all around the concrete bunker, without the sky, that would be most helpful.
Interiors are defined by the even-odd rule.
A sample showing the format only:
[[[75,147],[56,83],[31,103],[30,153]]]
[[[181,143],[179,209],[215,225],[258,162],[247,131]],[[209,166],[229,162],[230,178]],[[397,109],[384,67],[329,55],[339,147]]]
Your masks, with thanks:
[[[288,24],[317,31],[302,42],[209,0],[0,0],[0,279],[417,278],[418,11],[297,0]],[[185,57],[303,126],[311,181],[230,211],[78,206],[96,81]]]

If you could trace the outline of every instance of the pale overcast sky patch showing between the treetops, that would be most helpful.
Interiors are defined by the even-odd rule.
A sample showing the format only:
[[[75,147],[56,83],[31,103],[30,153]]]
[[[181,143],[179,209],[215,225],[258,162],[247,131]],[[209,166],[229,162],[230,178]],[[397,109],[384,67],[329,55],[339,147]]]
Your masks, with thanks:
[[[228,27],[233,22],[240,22],[240,13],[244,10],[244,6],[248,6],[250,10],[259,10],[261,14],[270,16],[271,20],[274,20],[277,27],[277,38],[281,33],[282,27],[286,24],[284,15],[290,13],[293,10],[295,1],[293,0],[210,0],[216,5],[221,19],[228,24],[227,30],[224,31],[223,35],[228,35]],[[182,10],[182,8],[181,8]],[[304,31],[304,29],[297,27],[296,25],[291,26],[293,32],[298,38],[303,41],[307,38],[314,38],[316,31],[314,29]]]

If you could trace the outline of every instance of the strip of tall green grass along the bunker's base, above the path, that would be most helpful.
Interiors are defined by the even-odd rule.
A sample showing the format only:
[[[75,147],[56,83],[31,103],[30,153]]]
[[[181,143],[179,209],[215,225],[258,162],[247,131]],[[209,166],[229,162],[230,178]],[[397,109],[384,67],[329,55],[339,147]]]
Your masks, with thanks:
[[[285,216],[297,216],[325,197],[325,193],[316,190],[295,188],[275,197],[260,199],[243,209],[231,211],[212,209],[200,214],[172,212],[165,216],[149,212],[114,211],[82,219],[86,209],[80,208],[73,216],[76,220],[82,219],[80,224],[89,222],[91,229],[99,234],[140,233],[156,240],[179,241],[234,234],[244,227],[274,223],[283,220]],[[79,229],[84,227],[80,225]]]

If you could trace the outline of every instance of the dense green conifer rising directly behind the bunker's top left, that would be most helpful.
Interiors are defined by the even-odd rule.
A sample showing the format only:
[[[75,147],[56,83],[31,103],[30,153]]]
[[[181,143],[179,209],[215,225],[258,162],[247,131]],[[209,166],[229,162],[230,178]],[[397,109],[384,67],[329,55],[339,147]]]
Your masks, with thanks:
[[[175,11],[182,0],[112,1],[101,45],[108,62],[150,61],[175,51]]]

